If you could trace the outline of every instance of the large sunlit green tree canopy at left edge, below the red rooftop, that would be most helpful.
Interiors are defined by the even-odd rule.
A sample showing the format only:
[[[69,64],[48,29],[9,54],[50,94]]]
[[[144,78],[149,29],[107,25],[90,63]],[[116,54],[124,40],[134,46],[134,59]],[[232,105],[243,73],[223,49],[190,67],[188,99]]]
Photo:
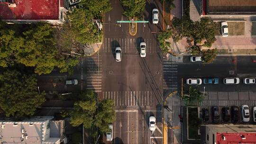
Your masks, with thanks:
[[[2,29],[4,28],[4,29]],[[35,67],[38,74],[50,73],[55,67],[67,72],[78,63],[77,58],[61,54],[56,46],[54,28],[48,23],[9,26],[0,22],[0,66],[21,63]]]

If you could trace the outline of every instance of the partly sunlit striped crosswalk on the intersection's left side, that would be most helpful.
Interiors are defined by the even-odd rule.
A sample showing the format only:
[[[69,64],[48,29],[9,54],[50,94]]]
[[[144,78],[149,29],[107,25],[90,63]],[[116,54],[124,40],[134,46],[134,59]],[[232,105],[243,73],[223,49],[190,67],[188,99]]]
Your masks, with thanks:
[[[98,54],[86,58],[87,64],[87,90],[101,92],[101,58]]]

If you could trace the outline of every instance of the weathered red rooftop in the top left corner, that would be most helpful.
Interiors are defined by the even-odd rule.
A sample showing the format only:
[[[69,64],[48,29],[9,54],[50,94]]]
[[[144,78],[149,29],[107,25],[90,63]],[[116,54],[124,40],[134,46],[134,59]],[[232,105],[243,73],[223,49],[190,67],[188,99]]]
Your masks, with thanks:
[[[11,1],[11,0],[10,0]],[[12,0],[0,2],[0,19],[56,20],[59,19],[59,0]]]

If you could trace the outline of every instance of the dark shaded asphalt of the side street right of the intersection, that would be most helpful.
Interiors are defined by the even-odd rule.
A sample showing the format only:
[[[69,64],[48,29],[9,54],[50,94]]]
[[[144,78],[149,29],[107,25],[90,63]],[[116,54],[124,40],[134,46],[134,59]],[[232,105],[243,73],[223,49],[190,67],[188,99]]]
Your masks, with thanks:
[[[256,56],[217,56],[210,64],[191,63],[189,56],[183,57],[183,63],[178,63],[178,79],[187,78],[219,78],[219,84],[202,84],[200,87],[207,87],[207,91],[256,91],[256,85],[247,85],[243,79],[256,77]],[[223,78],[238,77],[240,83],[236,85],[223,84]]]

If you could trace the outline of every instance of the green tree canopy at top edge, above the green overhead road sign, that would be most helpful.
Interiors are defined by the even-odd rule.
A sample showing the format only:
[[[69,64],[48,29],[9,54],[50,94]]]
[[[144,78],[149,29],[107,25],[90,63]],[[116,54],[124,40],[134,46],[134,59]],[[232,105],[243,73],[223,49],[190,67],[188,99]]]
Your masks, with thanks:
[[[124,7],[123,15],[128,18],[135,18],[144,11],[146,0],[121,0]]]

